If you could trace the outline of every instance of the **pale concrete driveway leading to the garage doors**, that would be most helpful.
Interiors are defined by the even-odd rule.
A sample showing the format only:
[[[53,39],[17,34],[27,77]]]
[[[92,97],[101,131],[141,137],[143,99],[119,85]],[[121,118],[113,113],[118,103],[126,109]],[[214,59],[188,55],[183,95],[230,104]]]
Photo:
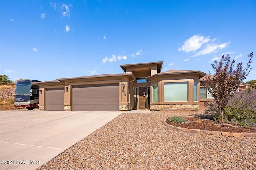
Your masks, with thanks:
[[[0,169],[36,169],[120,114],[0,111]]]

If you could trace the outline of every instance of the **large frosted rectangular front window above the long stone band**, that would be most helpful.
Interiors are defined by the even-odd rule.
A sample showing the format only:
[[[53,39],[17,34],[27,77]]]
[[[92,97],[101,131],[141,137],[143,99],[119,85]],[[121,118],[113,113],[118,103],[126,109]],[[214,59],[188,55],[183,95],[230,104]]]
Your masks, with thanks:
[[[187,102],[188,82],[164,83],[164,102]]]

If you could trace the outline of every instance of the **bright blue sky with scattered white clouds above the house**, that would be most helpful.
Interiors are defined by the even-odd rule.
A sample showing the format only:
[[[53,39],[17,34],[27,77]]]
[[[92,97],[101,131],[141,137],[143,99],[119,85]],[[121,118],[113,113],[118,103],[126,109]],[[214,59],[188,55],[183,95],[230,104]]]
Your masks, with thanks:
[[[164,61],[200,70],[256,53],[256,1],[0,1],[0,74],[40,81]],[[245,81],[256,79],[256,56]]]

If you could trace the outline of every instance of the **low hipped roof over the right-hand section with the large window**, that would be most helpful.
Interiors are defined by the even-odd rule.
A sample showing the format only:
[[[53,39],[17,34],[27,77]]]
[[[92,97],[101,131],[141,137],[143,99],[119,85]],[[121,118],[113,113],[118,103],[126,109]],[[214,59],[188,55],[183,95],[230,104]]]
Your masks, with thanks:
[[[152,76],[148,76],[146,77],[146,80],[150,80],[151,78],[155,77],[155,76],[167,76],[167,75],[178,75],[178,74],[198,74],[201,77],[205,76],[206,73],[202,72],[202,71],[193,71],[193,70],[169,70],[166,72],[161,72]]]

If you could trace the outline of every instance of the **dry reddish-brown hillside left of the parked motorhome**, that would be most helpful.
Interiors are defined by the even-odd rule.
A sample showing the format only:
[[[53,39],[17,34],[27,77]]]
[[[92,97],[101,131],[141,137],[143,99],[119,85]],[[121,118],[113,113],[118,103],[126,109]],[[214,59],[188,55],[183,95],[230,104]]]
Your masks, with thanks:
[[[20,110],[14,107],[14,94],[16,85],[0,85],[0,110]],[[12,94],[10,93],[12,90]]]

